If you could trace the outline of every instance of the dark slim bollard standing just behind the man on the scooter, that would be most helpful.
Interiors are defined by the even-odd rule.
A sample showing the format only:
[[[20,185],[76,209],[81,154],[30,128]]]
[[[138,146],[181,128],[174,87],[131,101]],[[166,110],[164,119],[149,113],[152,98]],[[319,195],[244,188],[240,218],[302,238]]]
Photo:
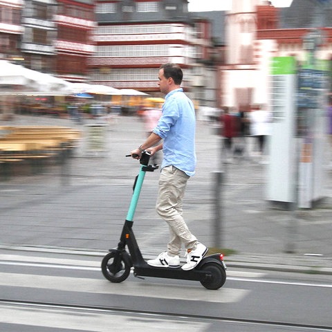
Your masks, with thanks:
[[[221,248],[222,239],[222,202],[221,193],[223,187],[223,172],[213,172],[213,183],[214,183],[214,248]]]

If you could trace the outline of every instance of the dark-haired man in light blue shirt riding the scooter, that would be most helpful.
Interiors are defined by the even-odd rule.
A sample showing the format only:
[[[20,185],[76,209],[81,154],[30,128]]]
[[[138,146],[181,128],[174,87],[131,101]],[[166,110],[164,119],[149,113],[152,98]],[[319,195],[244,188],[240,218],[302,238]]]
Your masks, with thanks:
[[[145,142],[131,151],[140,158],[145,149],[154,155],[163,149],[156,210],[169,225],[167,251],[147,264],[157,267],[180,266],[181,246],[184,244],[187,263],[183,270],[192,270],[203,259],[208,248],[197,241],[183,219],[183,197],[190,176],[195,173],[195,109],[183,89],[183,72],[176,64],[164,64],[158,73],[160,91],[165,93],[162,116]],[[160,144],[156,143],[163,140]],[[156,145],[154,147],[154,145]]]

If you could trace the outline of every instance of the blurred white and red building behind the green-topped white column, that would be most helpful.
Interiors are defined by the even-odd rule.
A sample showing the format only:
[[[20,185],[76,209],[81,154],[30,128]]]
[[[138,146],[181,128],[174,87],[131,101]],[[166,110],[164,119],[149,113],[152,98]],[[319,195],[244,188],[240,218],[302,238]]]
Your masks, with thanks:
[[[226,65],[219,66],[219,107],[269,104],[272,57],[306,59],[304,37],[311,29],[280,29],[278,8],[264,0],[233,1],[226,18]],[[319,59],[332,59],[332,28],[321,28]]]

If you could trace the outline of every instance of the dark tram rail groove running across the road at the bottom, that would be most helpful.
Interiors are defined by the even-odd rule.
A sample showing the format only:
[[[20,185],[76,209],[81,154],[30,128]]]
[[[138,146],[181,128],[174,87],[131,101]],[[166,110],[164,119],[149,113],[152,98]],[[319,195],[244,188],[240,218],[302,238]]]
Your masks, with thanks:
[[[205,322],[228,322],[240,324],[256,324],[257,326],[280,326],[285,328],[292,328],[294,331],[332,331],[332,326],[324,326],[317,324],[298,324],[292,322],[278,322],[269,320],[249,320],[244,318],[234,318],[215,315],[200,315],[200,314],[183,314],[183,313],[165,313],[160,311],[143,311],[130,308],[119,308],[116,306],[91,306],[91,305],[77,305],[56,302],[34,302],[22,301],[15,299],[0,299],[0,305],[20,306],[21,308],[34,308],[34,309],[62,309],[68,311],[81,311],[89,313],[104,313],[104,314],[120,314],[120,315],[144,315],[144,317],[162,317],[168,319],[181,319],[181,320],[196,320]]]

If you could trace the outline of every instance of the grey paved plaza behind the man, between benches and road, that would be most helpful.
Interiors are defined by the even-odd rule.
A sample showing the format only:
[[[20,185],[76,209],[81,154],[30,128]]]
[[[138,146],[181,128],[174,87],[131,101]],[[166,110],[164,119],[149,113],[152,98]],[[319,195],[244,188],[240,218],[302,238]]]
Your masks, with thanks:
[[[16,170],[1,181],[1,248],[107,252],[116,246],[139,167],[125,155],[145,139],[142,121],[136,116],[82,123],[46,116],[0,121],[22,124],[75,127],[83,135],[65,165],[45,165],[34,175]],[[91,124],[107,124],[100,153],[89,151]],[[197,122],[196,142],[198,164],[187,185],[184,216],[199,241],[234,250],[227,257],[234,265],[315,266],[332,273],[331,169],[326,166],[326,199],[315,209],[277,210],[266,201],[268,165],[255,156],[223,163],[221,139],[210,122]],[[154,210],[158,173],[146,175],[135,216],[145,256],[159,254],[167,243],[167,225]],[[216,187],[218,178],[222,183]]]

